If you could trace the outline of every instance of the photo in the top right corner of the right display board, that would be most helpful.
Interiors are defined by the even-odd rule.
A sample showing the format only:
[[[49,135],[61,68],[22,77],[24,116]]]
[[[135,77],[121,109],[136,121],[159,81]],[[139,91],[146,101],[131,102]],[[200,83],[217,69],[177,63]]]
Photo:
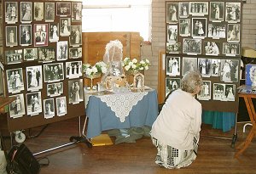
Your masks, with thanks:
[[[226,3],[226,21],[237,23],[241,20],[241,3]]]

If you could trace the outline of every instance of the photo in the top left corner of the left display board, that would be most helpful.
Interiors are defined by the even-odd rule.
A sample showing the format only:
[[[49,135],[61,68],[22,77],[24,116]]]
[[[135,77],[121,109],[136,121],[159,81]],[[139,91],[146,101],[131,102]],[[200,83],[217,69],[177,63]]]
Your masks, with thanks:
[[[5,2],[5,22],[15,24],[18,22],[18,2]]]

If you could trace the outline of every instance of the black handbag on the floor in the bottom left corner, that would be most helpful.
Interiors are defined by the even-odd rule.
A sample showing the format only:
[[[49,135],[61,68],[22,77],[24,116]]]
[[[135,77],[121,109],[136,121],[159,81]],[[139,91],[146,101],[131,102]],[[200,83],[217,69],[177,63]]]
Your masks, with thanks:
[[[9,174],[38,174],[40,164],[24,143],[13,146],[7,154],[6,171]]]

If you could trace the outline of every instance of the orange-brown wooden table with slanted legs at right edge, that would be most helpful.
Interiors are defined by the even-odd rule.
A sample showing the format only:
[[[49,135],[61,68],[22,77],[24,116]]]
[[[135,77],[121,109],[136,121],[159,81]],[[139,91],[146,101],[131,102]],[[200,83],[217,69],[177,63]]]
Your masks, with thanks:
[[[249,132],[249,134],[247,135],[247,138],[245,139],[245,141],[243,143],[241,143],[239,146],[237,146],[236,149],[238,149],[238,151],[235,154],[236,158],[240,154],[242,154],[244,150],[247,149],[249,144],[252,142],[252,139],[256,136],[256,122],[255,122],[256,121],[256,113],[255,113],[255,109],[254,109],[253,101],[252,101],[252,98],[256,98],[256,94],[239,93],[238,96],[240,98],[243,98],[245,101],[245,104],[247,106],[247,112],[249,114],[249,117],[253,124],[253,127],[252,127],[251,131]]]

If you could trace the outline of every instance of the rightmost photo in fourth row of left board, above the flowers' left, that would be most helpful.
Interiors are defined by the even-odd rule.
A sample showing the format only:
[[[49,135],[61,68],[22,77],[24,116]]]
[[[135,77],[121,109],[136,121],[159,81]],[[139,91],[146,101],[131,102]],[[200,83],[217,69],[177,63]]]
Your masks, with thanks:
[[[66,77],[73,79],[83,76],[82,61],[66,62]]]

